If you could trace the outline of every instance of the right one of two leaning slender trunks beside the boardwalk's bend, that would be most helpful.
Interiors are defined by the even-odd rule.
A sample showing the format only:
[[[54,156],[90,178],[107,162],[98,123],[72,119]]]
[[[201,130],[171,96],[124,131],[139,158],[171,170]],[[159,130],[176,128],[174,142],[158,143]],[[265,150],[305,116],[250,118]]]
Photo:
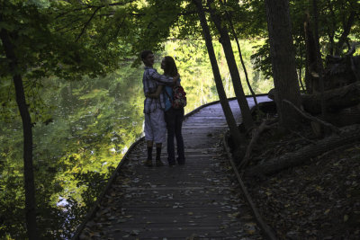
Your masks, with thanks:
[[[217,30],[220,33],[220,43],[222,49],[224,49],[225,58],[228,63],[229,72],[231,75],[232,84],[234,86],[235,95],[238,99],[238,105],[241,110],[241,115],[246,129],[250,129],[254,125],[254,121],[251,116],[250,108],[247,104],[247,98],[245,97],[244,90],[242,88],[240,75],[238,73],[238,66],[235,61],[234,52],[231,47],[231,40],[229,37],[229,31],[226,26],[221,22],[220,16],[211,9],[212,0],[208,1],[208,7],[210,9],[210,15],[212,22],[215,23]]]

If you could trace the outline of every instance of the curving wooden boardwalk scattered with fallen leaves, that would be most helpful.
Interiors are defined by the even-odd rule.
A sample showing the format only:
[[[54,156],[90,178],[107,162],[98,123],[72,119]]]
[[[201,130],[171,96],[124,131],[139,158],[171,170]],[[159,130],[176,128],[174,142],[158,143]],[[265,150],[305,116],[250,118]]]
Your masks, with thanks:
[[[266,96],[259,102],[270,101]],[[253,106],[251,98],[248,98]],[[230,102],[241,121],[237,102]],[[220,103],[184,120],[186,164],[148,168],[144,142],[133,149],[83,239],[262,239],[237,184],[220,136],[227,129]],[[162,159],[166,160],[166,149]]]

